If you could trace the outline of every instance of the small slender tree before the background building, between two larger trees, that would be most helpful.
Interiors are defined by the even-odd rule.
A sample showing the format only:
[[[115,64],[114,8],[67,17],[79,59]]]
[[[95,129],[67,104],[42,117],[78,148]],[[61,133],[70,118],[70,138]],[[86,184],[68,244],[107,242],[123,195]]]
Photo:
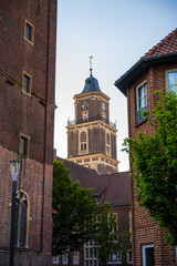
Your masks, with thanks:
[[[128,247],[128,236],[127,232],[119,234],[117,218],[111,211],[110,203],[105,202],[104,206],[97,209],[97,232],[94,238],[101,265],[107,265],[107,259],[117,252],[124,257]]]

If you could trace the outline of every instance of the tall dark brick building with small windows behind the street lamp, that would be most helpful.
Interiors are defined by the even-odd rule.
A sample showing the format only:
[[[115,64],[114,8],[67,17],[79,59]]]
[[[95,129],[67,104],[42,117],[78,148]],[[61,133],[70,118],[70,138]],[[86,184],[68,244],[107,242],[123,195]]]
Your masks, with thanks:
[[[56,0],[0,1],[0,265],[19,160],[15,266],[51,265]]]

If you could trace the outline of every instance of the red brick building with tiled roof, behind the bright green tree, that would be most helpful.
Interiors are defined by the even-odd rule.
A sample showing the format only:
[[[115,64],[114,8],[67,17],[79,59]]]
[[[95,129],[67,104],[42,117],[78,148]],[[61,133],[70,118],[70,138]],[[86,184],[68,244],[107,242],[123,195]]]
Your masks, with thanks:
[[[177,29],[142,57],[115,85],[127,96],[129,136],[135,137],[139,131],[153,134],[153,127],[140,116],[140,111],[152,111],[156,106],[158,99],[153,91],[177,92]],[[137,191],[133,185],[132,181],[134,265],[176,265],[175,248],[165,242],[158,223],[138,206]]]

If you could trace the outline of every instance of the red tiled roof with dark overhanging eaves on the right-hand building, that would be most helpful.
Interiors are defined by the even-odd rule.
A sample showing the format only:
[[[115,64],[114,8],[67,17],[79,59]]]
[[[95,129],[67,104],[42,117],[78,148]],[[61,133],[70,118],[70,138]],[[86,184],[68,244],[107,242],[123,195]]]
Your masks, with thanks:
[[[169,62],[177,62],[177,29],[145,53],[114,84],[126,96],[127,86],[143,75],[148,68]]]

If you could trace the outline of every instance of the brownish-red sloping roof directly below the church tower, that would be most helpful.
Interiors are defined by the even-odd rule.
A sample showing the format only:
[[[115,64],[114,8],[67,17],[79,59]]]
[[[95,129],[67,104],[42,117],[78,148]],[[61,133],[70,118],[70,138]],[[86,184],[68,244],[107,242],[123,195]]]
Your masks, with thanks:
[[[58,160],[64,161],[64,165],[70,170],[70,175],[73,182],[79,181],[82,187],[93,188],[92,195],[102,201],[100,204],[107,201],[112,206],[131,205],[129,172],[100,175],[94,170],[67,160]]]

